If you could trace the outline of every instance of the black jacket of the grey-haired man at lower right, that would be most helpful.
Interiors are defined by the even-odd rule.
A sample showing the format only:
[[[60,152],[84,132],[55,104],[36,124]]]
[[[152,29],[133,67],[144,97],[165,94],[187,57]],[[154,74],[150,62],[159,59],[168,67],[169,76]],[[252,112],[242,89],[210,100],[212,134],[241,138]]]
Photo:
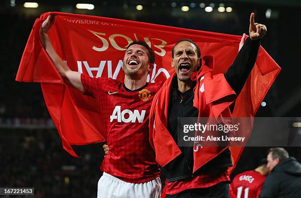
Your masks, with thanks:
[[[301,164],[290,157],[267,176],[260,198],[301,198]]]

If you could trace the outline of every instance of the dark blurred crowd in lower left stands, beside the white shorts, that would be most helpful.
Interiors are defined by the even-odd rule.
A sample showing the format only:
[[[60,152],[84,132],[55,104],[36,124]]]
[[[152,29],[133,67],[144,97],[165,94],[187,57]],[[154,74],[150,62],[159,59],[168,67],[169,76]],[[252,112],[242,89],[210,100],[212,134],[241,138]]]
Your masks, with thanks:
[[[95,198],[103,159],[101,144],[74,147],[69,155],[56,130],[0,133],[0,187],[34,187],[36,198]]]

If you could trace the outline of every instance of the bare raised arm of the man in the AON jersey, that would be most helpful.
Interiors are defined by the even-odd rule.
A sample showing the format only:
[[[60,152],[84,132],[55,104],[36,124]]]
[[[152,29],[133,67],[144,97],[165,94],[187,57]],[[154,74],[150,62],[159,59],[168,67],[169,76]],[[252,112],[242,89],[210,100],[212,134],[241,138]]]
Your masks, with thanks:
[[[60,73],[61,78],[63,81],[74,87],[75,89],[79,90],[80,92],[84,92],[83,85],[81,82],[81,74],[78,72],[71,71],[66,63],[64,63],[60,56],[57,54],[51,40],[48,36],[48,31],[52,27],[55,22],[55,16],[49,15],[47,19],[43,22],[39,34],[40,40],[46,52],[48,53],[51,61],[57,68],[58,72]]]

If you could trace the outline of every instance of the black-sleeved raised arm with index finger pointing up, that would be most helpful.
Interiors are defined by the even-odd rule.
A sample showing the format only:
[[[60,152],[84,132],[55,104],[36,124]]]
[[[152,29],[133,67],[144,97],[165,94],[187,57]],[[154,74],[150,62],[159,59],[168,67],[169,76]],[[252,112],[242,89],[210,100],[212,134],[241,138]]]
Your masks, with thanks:
[[[225,73],[225,78],[237,95],[240,94],[253,69],[260,47],[260,39],[263,38],[266,31],[265,25],[254,23],[254,13],[252,13],[250,16],[249,38],[246,39],[235,61]]]

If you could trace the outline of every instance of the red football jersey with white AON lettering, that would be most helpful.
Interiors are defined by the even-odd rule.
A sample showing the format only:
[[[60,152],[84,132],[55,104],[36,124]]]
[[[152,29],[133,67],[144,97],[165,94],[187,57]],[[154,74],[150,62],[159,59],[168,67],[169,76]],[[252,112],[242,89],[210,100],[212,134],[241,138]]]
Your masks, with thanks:
[[[162,83],[149,83],[140,91],[126,91],[123,83],[112,78],[81,75],[84,94],[99,102],[110,151],[101,171],[123,181],[142,183],[158,177],[160,172],[149,143],[151,101]]]

